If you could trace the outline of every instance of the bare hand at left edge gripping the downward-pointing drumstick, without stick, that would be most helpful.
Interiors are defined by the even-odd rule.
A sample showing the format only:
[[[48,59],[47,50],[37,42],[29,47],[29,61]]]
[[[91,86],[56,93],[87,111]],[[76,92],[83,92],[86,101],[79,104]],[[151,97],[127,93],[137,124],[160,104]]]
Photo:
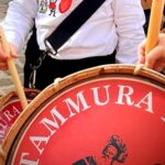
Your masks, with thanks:
[[[18,52],[13,44],[9,44],[9,50],[10,50],[10,55],[6,54],[2,51],[2,46],[0,45],[0,70],[8,69],[8,64],[7,64],[8,58],[10,58],[10,57],[16,58],[18,57]]]

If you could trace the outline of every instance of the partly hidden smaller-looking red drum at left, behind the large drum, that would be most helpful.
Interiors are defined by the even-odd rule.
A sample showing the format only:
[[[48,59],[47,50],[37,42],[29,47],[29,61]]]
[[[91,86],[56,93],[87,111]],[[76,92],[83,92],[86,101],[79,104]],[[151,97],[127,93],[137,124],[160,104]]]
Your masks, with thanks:
[[[24,89],[28,102],[31,102],[40,91],[36,89]],[[9,129],[22,112],[20,99],[15,91],[0,97],[0,144],[7,136]]]

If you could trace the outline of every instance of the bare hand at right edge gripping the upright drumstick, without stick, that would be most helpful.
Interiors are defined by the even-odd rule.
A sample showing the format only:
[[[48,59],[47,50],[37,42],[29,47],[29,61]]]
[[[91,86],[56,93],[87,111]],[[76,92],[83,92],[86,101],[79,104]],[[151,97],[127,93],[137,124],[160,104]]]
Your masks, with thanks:
[[[157,45],[145,55],[146,40],[139,46],[139,63],[146,67],[163,72],[165,69],[165,34],[160,34]]]

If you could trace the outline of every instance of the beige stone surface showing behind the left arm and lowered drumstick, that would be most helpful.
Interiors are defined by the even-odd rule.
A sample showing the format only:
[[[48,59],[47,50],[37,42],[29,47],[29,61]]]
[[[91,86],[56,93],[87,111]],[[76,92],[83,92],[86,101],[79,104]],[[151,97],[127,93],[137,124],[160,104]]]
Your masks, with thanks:
[[[10,0],[0,0],[0,22],[6,16],[9,1]],[[23,53],[19,55],[19,59],[15,59],[14,63],[19,73],[19,77],[21,78],[21,81],[23,81],[23,64],[24,64]],[[13,90],[15,89],[10,73],[0,70],[0,96],[4,96]]]

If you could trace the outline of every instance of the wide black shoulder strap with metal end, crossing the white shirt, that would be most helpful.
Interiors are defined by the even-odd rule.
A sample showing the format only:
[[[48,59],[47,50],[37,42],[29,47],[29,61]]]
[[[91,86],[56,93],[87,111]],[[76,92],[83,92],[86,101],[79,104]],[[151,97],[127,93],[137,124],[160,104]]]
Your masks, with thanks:
[[[82,2],[45,40],[47,50],[57,50],[91,16],[106,0],[82,0]]]

